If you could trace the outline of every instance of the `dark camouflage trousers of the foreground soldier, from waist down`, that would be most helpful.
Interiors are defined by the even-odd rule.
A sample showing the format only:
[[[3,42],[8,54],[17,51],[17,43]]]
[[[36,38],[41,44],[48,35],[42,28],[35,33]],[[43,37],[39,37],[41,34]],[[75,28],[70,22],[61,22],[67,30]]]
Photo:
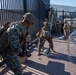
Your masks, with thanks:
[[[23,75],[23,69],[16,53],[9,53],[3,47],[0,49],[3,60],[6,61],[6,65],[14,72],[14,75]]]

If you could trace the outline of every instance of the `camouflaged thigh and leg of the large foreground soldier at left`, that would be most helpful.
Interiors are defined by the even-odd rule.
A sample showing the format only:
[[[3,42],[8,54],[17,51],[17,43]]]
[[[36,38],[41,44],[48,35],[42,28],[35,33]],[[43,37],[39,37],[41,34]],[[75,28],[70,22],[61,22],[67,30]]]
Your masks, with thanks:
[[[21,63],[16,55],[5,59],[5,61],[7,66],[14,72],[14,75],[23,75]]]

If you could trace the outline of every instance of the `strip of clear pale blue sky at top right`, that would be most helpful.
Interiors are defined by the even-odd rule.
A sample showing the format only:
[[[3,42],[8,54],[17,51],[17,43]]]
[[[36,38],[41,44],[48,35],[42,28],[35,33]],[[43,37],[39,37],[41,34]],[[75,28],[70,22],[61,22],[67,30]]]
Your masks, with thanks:
[[[67,6],[76,7],[76,0],[50,0],[50,4],[67,5]]]

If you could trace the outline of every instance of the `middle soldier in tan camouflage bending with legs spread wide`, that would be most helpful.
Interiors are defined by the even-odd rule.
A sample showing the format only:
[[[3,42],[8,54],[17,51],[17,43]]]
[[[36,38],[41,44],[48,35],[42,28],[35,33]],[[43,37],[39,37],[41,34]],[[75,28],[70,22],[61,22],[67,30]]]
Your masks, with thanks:
[[[39,43],[38,43],[38,55],[40,55],[41,52],[41,48],[43,48],[45,41],[47,40],[49,42],[49,52],[52,50],[53,52],[53,41],[52,41],[52,36],[50,34],[50,26],[49,23],[47,21],[47,19],[45,19],[45,22],[43,22],[43,27],[41,29],[41,31],[39,33],[37,33],[38,39],[39,39]]]

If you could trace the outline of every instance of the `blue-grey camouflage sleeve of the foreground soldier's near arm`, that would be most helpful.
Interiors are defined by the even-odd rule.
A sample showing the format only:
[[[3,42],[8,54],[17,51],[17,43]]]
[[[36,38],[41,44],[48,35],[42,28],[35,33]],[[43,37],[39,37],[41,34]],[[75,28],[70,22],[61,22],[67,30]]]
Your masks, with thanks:
[[[21,34],[22,34],[22,30],[20,28],[12,27],[9,30],[8,41],[10,48],[17,53],[22,51],[22,48],[19,43]]]

